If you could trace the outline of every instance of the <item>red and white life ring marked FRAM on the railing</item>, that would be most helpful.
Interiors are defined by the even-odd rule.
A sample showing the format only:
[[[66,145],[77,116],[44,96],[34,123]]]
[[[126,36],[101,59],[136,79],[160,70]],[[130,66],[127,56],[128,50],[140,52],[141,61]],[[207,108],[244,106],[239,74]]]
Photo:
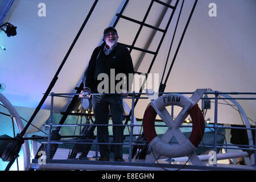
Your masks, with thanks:
[[[157,113],[152,105],[159,111],[170,105],[177,105],[183,108],[190,105],[187,112],[192,119],[192,132],[189,138],[179,144],[164,143],[155,131],[155,118]],[[190,98],[181,94],[166,94],[157,98],[147,107],[143,116],[143,132],[149,146],[152,150],[159,152],[160,155],[170,158],[186,156],[195,151],[196,147],[203,139],[204,129],[204,116],[199,106]]]

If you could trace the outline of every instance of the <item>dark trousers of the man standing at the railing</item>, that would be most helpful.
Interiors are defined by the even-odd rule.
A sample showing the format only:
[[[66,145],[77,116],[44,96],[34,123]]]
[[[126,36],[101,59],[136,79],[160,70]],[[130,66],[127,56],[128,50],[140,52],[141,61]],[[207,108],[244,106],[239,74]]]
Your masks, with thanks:
[[[94,95],[92,97],[95,123],[108,125],[109,111],[112,115],[113,125],[123,124],[123,103],[122,97],[116,95]],[[97,126],[97,140],[100,143],[109,143],[108,126]],[[123,143],[123,126],[113,126],[113,142]],[[109,156],[110,149],[108,144],[99,144],[100,155]],[[121,158],[122,145],[114,144],[114,158]]]

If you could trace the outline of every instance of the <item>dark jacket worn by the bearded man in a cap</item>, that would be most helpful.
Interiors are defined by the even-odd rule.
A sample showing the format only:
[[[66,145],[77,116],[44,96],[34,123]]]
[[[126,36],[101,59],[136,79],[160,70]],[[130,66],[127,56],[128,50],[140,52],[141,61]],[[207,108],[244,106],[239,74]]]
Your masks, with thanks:
[[[85,87],[90,88],[94,93],[97,92],[97,86],[102,81],[97,80],[97,77],[100,73],[106,73],[109,76],[108,93],[110,93],[110,69],[114,69],[115,76],[118,73],[124,73],[126,75],[127,90],[130,92],[133,80],[130,81],[129,85],[129,73],[134,73],[134,68],[128,49],[117,43],[117,46],[113,48],[112,52],[110,52],[109,55],[105,55],[104,47],[105,43],[96,47],[92,53],[88,68],[85,72]],[[115,85],[119,81],[120,80],[115,81]]]

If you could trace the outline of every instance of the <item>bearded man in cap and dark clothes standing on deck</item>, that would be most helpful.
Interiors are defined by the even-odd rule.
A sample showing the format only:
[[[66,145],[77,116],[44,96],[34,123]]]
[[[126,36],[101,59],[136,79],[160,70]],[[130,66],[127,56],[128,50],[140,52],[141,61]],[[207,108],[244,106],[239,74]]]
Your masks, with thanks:
[[[89,97],[91,93],[102,93],[92,97],[92,106],[95,114],[95,123],[107,125],[109,123],[109,111],[112,115],[113,125],[123,124],[123,104],[122,97],[127,97],[131,91],[133,78],[129,80],[129,73],[134,73],[133,61],[131,60],[128,49],[117,43],[118,34],[114,27],[108,27],[104,30],[104,43],[96,47],[90,58],[88,68],[84,77],[84,90],[81,94]],[[101,74],[108,76],[108,81],[101,85],[98,76]],[[114,73],[114,77],[113,77]],[[126,80],[126,88],[120,86],[121,92],[117,92],[116,75],[123,73],[122,81]],[[113,80],[114,78],[114,80]],[[114,83],[114,85],[113,85]],[[114,88],[113,88],[114,86]],[[119,94],[108,94],[108,93]],[[97,140],[100,143],[109,143],[108,126],[97,126]],[[113,142],[123,143],[123,127],[113,126]],[[99,144],[101,157],[98,160],[109,160],[110,149],[108,144]],[[114,160],[123,162],[122,145],[114,144]]]

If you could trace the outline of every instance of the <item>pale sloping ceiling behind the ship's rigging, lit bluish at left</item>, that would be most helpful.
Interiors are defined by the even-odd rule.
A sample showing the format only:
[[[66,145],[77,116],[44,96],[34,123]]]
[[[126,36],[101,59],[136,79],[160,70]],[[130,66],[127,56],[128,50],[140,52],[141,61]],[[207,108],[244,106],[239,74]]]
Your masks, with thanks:
[[[40,9],[38,4],[42,2],[46,4],[45,17],[38,16]],[[0,46],[6,48],[6,51],[0,50],[0,82],[5,83],[6,90],[3,94],[13,105],[32,108],[38,106],[93,2],[93,0],[14,1],[4,22],[17,26],[17,35],[8,38],[5,32],[0,32]],[[150,0],[130,0],[123,15],[142,20],[150,2]],[[169,67],[193,2],[193,0],[185,0]],[[212,2],[217,5],[216,17],[208,15],[210,10],[208,5]],[[93,49],[101,43],[104,28],[113,24],[115,14],[119,12],[122,3],[122,0],[100,0],[97,3],[52,92],[75,92],[74,88],[80,85]],[[166,61],[180,4],[181,2],[151,69],[151,73],[159,73],[159,77]],[[146,23],[157,24],[163,10],[162,5],[154,3]],[[211,88],[220,92],[255,92],[255,10],[254,0],[199,0],[165,91],[193,92],[197,88]],[[165,28],[170,14],[171,10],[168,10],[160,23],[160,28]],[[118,42],[130,45],[139,25],[121,19],[116,28],[119,35]],[[135,47],[145,47],[151,33],[150,28],[143,28]],[[150,51],[155,51],[160,36],[162,36],[160,33],[154,36],[148,48]],[[133,50],[131,56],[136,67],[141,53]],[[146,73],[151,60],[152,56],[146,54],[137,71]],[[56,98],[55,112],[65,108],[67,101],[65,98]],[[130,100],[127,102],[130,104]],[[136,117],[143,117],[148,102],[149,100],[138,102],[135,109]],[[255,100],[239,102],[247,117],[255,120]],[[42,109],[49,109],[49,103],[48,98]],[[214,117],[213,111],[214,109],[209,110],[207,115],[211,121]],[[239,113],[230,106],[219,105],[218,112],[219,123],[242,124]]]

